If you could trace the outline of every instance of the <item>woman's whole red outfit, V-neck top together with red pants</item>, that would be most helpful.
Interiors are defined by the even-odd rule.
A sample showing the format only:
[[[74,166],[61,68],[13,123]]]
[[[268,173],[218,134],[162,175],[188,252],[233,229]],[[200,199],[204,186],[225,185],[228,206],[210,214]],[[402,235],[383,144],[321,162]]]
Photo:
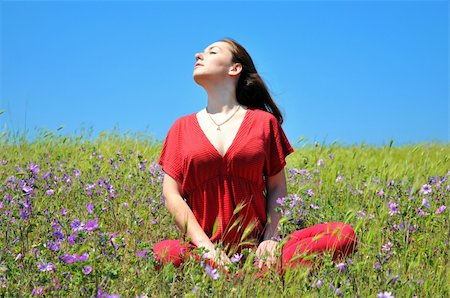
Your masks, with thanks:
[[[266,224],[265,177],[283,170],[286,156],[293,151],[272,114],[248,108],[233,143],[221,156],[193,113],[170,128],[159,164],[181,186],[181,196],[211,241],[239,250],[238,243],[261,241]],[[354,251],[356,243],[349,225],[314,225],[289,236],[282,249],[282,266],[310,264],[303,256],[324,251],[333,251],[334,259],[342,258]],[[179,240],[154,246],[159,261],[177,266],[186,249]]]

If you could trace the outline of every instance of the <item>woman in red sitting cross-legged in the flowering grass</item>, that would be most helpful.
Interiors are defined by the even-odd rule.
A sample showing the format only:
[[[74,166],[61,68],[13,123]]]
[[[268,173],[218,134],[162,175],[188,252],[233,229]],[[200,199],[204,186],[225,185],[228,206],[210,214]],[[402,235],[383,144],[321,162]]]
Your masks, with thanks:
[[[208,94],[207,106],[175,121],[159,160],[166,207],[190,244],[165,240],[154,252],[179,265],[186,249],[204,248],[207,258],[226,265],[228,255],[253,246],[258,265],[272,267],[279,261],[276,200],[287,195],[285,158],[294,151],[283,117],[236,41],[215,42],[195,59],[193,77]],[[348,225],[316,225],[290,236],[281,264],[308,264],[302,256],[327,250],[346,256],[355,245]]]

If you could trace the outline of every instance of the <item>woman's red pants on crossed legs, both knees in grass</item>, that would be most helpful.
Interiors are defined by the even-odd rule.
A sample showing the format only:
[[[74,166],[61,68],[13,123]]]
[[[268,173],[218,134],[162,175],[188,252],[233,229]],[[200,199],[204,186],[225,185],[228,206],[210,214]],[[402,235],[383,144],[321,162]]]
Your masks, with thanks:
[[[356,235],[352,227],[340,222],[314,225],[292,233],[282,248],[283,268],[296,265],[311,266],[311,257],[322,252],[332,252],[333,260],[350,255],[356,248]],[[193,245],[183,245],[180,240],[163,240],[153,247],[159,262],[179,266]]]

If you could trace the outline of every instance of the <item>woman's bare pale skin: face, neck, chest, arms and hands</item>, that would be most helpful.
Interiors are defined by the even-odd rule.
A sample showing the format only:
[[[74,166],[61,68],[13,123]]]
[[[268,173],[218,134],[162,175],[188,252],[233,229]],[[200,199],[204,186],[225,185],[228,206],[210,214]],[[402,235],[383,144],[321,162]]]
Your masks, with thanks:
[[[246,108],[242,107],[230,121],[221,126],[220,135],[215,131],[216,125],[209,119],[207,112],[214,117],[217,123],[221,123],[235,111],[238,105],[236,85],[242,71],[242,65],[232,62],[231,47],[226,42],[211,44],[202,53],[197,53],[195,59],[194,80],[208,94],[207,111],[203,109],[197,113],[197,119],[211,144],[223,156],[239,129]],[[267,215],[270,220],[266,225],[263,241],[256,249],[259,267],[262,267],[263,264],[272,267],[279,262],[276,257],[278,242],[271,239],[277,235],[277,226],[280,219],[280,215],[275,212],[276,199],[287,195],[284,169],[266,178]],[[226,265],[231,262],[230,259],[223,251],[215,249],[214,243],[203,231],[180,193],[181,188],[177,181],[165,174],[163,196],[169,213],[175,217],[177,226],[186,232],[186,236],[191,239],[195,246],[205,248],[209,252],[207,257],[226,268]]]

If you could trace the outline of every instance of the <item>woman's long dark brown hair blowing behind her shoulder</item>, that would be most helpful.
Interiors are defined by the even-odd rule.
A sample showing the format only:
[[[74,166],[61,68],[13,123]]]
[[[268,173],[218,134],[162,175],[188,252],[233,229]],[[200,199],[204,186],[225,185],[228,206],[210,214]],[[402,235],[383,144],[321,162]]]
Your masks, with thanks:
[[[237,101],[244,106],[272,113],[280,124],[283,123],[283,115],[281,115],[272,96],[270,96],[269,89],[263,79],[256,71],[255,64],[247,50],[231,38],[225,38],[221,41],[231,45],[233,62],[242,65],[242,71],[236,87]]]

